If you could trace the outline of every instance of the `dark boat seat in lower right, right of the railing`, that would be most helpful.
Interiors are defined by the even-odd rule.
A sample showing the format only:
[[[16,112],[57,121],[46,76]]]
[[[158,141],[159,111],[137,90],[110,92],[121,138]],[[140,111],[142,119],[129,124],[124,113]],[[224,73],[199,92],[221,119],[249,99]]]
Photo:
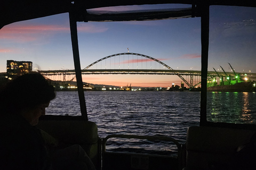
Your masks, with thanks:
[[[191,126],[186,140],[186,168],[209,169],[234,159],[237,148],[248,143],[253,130]]]

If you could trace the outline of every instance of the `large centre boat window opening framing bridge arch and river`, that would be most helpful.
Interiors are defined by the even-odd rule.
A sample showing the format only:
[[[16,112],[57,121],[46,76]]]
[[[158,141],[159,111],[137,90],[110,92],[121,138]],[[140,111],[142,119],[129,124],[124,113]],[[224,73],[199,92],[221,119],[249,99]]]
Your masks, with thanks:
[[[77,29],[83,81],[94,88],[85,91],[87,113],[99,137],[164,135],[185,143],[187,128],[199,125],[200,18],[77,22]],[[113,150],[119,142],[110,143]]]

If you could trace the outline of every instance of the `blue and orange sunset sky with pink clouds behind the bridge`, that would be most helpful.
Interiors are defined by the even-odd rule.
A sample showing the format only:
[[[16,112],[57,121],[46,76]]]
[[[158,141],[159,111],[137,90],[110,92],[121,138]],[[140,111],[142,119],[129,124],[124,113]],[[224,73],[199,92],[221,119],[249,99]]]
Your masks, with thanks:
[[[135,5],[132,10],[155,6]],[[157,8],[190,7],[158,5]],[[130,10],[131,7],[121,7]],[[100,10],[116,10],[103,8]],[[209,70],[256,73],[256,10],[249,7],[210,8]],[[100,58],[126,53],[154,57],[174,70],[201,70],[201,18],[131,22],[78,22],[81,67]],[[39,70],[74,69],[67,13],[6,25],[0,30],[0,72],[6,60],[31,61]],[[147,63],[147,64],[146,64]],[[98,69],[122,65],[130,69],[152,62],[137,56],[111,58]],[[156,65],[153,63],[153,65]],[[95,65],[96,66],[96,65]],[[140,67],[141,68],[141,67]],[[83,75],[83,81],[115,86],[167,87],[181,79],[171,75]]]

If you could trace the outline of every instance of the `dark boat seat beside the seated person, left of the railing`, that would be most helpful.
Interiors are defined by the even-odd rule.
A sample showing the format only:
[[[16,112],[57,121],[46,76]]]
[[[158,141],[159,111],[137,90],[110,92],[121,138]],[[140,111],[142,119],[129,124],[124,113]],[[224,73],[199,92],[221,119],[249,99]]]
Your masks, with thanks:
[[[98,128],[94,122],[84,120],[40,120],[37,127],[43,130],[43,137],[51,145],[58,145],[58,143],[64,146],[80,145],[95,167],[99,165],[101,161],[99,160],[100,144],[98,143]]]

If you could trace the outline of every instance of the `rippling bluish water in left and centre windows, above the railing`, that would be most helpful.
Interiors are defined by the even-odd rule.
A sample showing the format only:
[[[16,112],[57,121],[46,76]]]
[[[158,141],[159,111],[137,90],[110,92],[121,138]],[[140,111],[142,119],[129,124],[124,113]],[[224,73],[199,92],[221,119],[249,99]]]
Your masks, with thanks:
[[[89,120],[100,137],[109,134],[167,135],[186,141],[189,126],[199,125],[200,92],[86,91]],[[80,113],[77,91],[58,91],[47,114]]]

